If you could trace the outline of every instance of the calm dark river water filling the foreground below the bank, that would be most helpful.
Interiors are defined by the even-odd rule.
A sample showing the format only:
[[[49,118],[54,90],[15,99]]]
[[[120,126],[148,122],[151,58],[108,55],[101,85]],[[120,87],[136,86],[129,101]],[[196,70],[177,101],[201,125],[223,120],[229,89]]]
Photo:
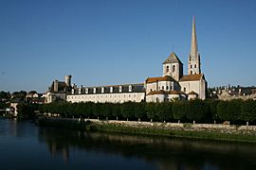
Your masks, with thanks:
[[[0,169],[256,169],[256,144],[86,133],[0,119]]]

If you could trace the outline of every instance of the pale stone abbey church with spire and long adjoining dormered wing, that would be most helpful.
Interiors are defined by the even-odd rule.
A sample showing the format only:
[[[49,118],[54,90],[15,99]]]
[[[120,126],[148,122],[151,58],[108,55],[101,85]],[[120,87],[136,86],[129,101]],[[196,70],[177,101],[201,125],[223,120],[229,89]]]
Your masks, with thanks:
[[[205,99],[207,81],[201,72],[200,54],[197,49],[195,20],[192,20],[191,52],[188,59],[188,74],[183,73],[183,63],[172,52],[162,63],[162,76],[148,77],[137,84],[120,84],[100,87],[71,86],[71,76],[64,81],[55,80],[46,93],[46,102],[164,102],[174,99]]]

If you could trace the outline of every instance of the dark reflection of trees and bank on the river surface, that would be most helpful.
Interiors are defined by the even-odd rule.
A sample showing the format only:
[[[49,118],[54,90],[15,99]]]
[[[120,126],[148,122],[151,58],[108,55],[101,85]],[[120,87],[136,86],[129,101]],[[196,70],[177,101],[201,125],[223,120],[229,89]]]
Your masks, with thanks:
[[[47,144],[52,156],[70,152],[104,153],[144,161],[157,169],[253,169],[255,144],[208,142],[108,133],[88,133],[40,127],[39,141]],[[73,149],[71,149],[73,148]],[[111,162],[116,163],[116,162]]]

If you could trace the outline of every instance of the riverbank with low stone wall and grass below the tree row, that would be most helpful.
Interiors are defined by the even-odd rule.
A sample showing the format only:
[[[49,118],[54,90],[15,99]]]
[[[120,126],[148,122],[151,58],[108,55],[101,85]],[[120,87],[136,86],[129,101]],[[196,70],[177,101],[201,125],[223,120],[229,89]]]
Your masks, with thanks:
[[[38,125],[123,134],[256,143],[254,126],[101,121],[97,119],[39,119]]]

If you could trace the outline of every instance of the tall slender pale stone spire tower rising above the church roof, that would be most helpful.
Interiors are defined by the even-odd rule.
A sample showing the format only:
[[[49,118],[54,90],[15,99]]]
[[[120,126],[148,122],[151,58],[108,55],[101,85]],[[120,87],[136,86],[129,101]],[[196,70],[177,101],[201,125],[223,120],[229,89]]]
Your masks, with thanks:
[[[195,31],[195,19],[192,16],[192,44],[191,44],[191,53],[189,56],[189,64],[188,64],[188,74],[201,74],[201,63],[200,63],[200,55],[197,49],[197,37]]]

